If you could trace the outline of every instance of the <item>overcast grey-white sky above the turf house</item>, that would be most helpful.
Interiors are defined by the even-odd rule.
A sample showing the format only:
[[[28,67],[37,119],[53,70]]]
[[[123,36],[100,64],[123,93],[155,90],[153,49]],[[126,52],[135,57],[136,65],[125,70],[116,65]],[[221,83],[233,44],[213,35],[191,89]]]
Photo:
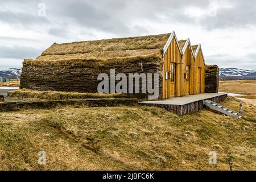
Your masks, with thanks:
[[[173,30],[201,43],[206,64],[256,69],[254,0],[0,0],[0,69],[21,67],[55,42]]]

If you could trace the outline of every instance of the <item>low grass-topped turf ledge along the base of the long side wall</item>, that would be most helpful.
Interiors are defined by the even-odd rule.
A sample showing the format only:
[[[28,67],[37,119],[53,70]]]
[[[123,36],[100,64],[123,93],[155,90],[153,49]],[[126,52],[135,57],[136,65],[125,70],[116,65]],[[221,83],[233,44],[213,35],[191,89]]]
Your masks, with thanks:
[[[104,93],[80,93],[80,92],[57,92],[57,91],[38,91],[30,89],[19,89],[10,91],[9,98],[35,98],[42,100],[69,100],[85,98],[127,98],[125,94],[104,94]]]

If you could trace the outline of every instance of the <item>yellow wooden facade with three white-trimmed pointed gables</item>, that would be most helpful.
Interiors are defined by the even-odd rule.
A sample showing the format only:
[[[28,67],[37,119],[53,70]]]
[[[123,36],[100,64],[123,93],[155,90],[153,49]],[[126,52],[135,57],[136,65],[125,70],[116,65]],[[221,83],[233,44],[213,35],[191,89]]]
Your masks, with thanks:
[[[174,32],[173,34],[163,54],[162,98],[204,93],[205,64],[201,46],[197,46],[193,52],[188,39],[181,50],[176,35]]]

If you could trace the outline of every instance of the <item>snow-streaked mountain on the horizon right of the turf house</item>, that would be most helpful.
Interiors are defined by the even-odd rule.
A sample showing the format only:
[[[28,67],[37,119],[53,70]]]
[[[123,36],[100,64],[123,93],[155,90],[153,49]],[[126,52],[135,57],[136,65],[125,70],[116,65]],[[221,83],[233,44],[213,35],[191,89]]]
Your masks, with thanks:
[[[256,69],[220,68],[221,79],[256,79]]]

